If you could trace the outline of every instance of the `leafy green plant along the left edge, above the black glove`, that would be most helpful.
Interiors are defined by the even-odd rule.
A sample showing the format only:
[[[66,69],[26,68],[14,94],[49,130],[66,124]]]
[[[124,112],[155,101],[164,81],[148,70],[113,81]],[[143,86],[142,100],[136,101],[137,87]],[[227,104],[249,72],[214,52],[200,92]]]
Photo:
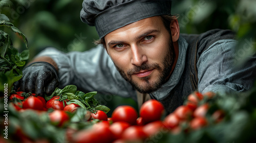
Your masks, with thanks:
[[[14,27],[13,23],[9,22],[10,20],[5,14],[1,14],[2,9],[10,7],[11,4],[10,1],[0,1],[0,85],[8,84],[9,91],[12,84],[22,77],[22,68],[29,58],[28,50],[19,53],[12,47],[11,37],[5,32],[7,31],[6,29],[9,29],[10,32],[18,34],[25,42],[26,47],[28,47],[26,36]],[[0,92],[3,91],[4,87],[1,86]]]

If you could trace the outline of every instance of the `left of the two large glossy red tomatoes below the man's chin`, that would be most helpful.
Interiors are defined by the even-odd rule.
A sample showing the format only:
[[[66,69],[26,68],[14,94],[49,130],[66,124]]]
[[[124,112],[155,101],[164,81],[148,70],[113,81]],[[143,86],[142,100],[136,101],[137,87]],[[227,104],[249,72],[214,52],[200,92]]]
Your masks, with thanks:
[[[137,118],[138,113],[132,106],[118,106],[112,113],[112,120],[114,123],[123,121],[129,123],[130,125],[136,125]]]

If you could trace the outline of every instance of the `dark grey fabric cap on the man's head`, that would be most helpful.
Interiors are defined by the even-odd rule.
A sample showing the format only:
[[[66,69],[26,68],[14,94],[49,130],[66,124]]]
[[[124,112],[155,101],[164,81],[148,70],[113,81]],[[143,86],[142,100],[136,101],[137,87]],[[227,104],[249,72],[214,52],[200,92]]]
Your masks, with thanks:
[[[80,18],[95,26],[100,38],[132,22],[170,14],[172,1],[84,0]]]

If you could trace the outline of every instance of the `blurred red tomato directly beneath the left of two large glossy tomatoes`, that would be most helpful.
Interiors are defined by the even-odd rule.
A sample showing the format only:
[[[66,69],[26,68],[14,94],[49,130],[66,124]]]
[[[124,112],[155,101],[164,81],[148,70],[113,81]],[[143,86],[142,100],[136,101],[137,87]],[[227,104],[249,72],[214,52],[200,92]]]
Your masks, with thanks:
[[[115,139],[118,139],[122,137],[123,131],[130,126],[127,122],[115,122],[110,126],[110,130],[114,134]]]

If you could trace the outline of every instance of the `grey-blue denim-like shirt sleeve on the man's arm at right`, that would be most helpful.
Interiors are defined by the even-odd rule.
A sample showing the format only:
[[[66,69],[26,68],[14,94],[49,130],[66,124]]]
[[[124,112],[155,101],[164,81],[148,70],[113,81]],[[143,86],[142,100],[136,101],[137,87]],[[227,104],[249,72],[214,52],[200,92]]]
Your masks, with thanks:
[[[243,92],[253,86],[256,58],[248,56],[247,62],[236,65],[237,60],[245,58],[238,54],[236,45],[236,40],[219,40],[201,54],[197,62],[200,92]]]

